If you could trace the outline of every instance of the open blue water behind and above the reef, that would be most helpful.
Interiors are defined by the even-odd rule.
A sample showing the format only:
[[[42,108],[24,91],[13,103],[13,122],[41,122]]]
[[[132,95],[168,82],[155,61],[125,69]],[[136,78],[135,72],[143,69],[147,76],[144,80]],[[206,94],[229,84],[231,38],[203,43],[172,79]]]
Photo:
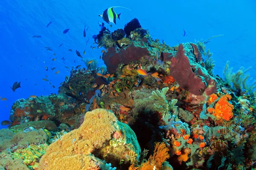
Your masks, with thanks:
[[[123,28],[125,23],[136,17],[143,28],[149,29],[152,38],[163,39],[170,46],[224,34],[207,44],[215,60],[215,74],[222,75],[226,61],[230,60],[230,66],[235,70],[241,66],[252,66],[250,74],[256,78],[255,0],[160,2],[0,0],[0,96],[8,99],[0,101],[0,122],[9,118],[15,100],[26,99],[34,94],[58,93],[59,84],[70,74],[64,66],[84,66],[75,50],[83,53],[85,49],[85,58],[99,59],[102,49],[90,48],[93,45],[91,37],[100,29],[97,22],[103,22],[98,14],[111,6],[125,6],[132,10],[116,8],[116,13],[122,13],[121,20],[117,20],[116,26],[113,24],[111,31]],[[50,21],[52,24],[47,28]],[[83,37],[84,25],[89,26],[86,38]],[[70,31],[63,34],[67,28]],[[182,35],[183,28],[187,37]],[[32,38],[33,35],[42,37]],[[85,45],[88,37],[90,43]],[[61,43],[64,45],[59,48]],[[47,51],[45,46],[51,47],[53,51]],[[69,48],[73,52],[68,51]],[[53,62],[54,53],[58,59]],[[65,64],[61,60],[63,56],[66,58]],[[99,62],[103,64],[101,59]],[[49,70],[45,71],[44,66]],[[56,69],[51,71],[52,67]],[[55,74],[58,70],[60,73]],[[46,78],[45,74],[51,80],[51,85],[42,80]],[[21,81],[21,88],[13,92],[9,86],[16,81]]]

